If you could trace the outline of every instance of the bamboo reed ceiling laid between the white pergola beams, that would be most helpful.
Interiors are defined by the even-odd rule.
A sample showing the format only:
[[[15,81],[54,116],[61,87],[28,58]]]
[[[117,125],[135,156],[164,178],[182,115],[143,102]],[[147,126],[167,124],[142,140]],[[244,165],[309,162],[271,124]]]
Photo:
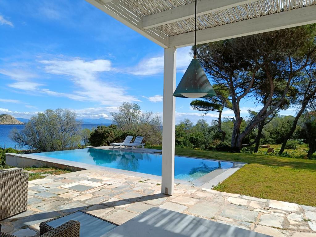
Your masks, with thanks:
[[[104,4],[116,11],[120,4],[133,12],[120,14],[130,21],[139,21],[142,17],[168,9],[193,3],[194,0],[117,0]],[[197,1],[198,4],[199,1]],[[316,5],[316,0],[260,0],[228,9],[197,16],[197,30],[216,27],[237,21],[252,19],[264,15],[279,13],[292,9]],[[127,14],[124,16],[124,14]],[[315,13],[316,14],[316,13]],[[148,29],[147,31],[164,38],[194,31],[194,18],[176,21]]]

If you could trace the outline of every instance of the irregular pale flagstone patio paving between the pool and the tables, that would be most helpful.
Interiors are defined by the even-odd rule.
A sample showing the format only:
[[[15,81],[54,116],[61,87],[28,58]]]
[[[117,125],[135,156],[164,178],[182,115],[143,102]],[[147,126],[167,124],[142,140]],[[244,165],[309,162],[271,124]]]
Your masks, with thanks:
[[[316,237],[316,207],[182,184],[167,196],[160,182],[104,170],[48,175],[29,182],[28,210],[0,222],[2,231],[39,236],[40,222],[76,210],[123,224],[155,206],[275,237]]]

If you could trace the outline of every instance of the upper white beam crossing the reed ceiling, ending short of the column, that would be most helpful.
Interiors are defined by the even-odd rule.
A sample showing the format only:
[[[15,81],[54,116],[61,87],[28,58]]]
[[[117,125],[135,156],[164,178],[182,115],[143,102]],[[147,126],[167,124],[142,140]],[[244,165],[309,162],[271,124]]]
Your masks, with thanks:
[[[197,1],[197,15],[239,6],[246,3],[255,2],[258,0],[200,0]],[[175,7],[166,11],[155,13],[143,17],[143,28],[149,29],[155,26],[161,26],[168,23],[181,21],[194,17],[195,3],[186,4],[180,7]]]

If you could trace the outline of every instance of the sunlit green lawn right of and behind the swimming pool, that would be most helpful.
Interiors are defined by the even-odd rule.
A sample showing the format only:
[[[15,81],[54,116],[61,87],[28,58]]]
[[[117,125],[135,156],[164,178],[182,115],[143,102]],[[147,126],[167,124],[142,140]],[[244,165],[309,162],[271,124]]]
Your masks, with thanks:
[[[218,191],[316,206],[316,160],[189,148],[175,148],[175,154],[248,163],[214,188]]]

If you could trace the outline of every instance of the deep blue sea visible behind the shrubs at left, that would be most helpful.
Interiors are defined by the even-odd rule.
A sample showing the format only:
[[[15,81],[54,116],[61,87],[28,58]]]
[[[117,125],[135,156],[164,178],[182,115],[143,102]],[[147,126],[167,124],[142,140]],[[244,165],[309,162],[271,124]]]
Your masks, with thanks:
[[[98,124],[82,124],[81,128],[85,129],[88,128],[90,130],[95,129]],[[108,125],[105,125],[108,126]],[[19,144],[12,141],[9,137],[10,132],[14,129],[22,130],[24,125],[0,125],[0,147],[1,148],[14,148],[17,150],[25,150],[28,149],[26,146],[19,146]]]

